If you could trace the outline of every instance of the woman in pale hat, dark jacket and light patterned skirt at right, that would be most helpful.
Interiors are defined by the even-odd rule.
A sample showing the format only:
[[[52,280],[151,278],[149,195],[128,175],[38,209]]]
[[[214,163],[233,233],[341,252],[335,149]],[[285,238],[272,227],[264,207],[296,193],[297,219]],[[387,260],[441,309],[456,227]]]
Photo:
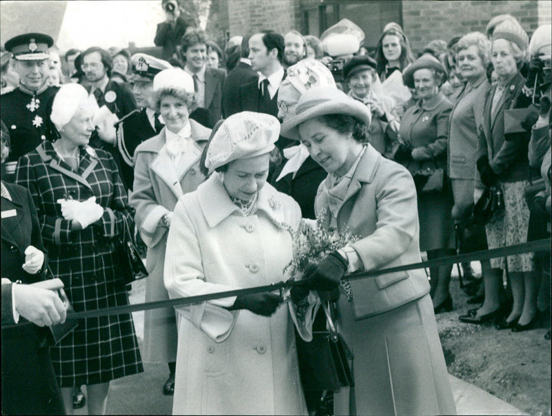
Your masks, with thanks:
[[[520,74],[527,57],[529,37],[515,19],[506,19],[496,25],[492,43],[491,62],[498,83],[485,97],[474,191],[474,200],[479,198],[484,187],[498,187],[504,196],[504,210],[496,213],[486,225],[489,249],[527,240],[529,207],[524,189],[529,184],[527,152],[531,138],[531,131],[508,131],[506,128],[507,112],[531,104],[531,97],[522,91],[526,80]],[[496,320],[498,328],[512,331],[533,328],[539,318],[539,279],[534,272],[533,254],[491,259],[491,267],[484,275],[484,303],[473,316],[463,315],[460,320],[475,324]],[[502,284],[506,267],[513,295],[511,311]]]

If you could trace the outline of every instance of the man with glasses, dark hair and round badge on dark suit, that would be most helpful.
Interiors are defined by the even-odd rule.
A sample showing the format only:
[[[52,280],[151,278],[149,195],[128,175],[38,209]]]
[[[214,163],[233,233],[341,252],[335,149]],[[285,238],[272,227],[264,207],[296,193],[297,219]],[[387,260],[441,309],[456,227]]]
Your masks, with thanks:
[[[84,72],[90,95],[96,98],[99,107],[105,105],[110,112],[121,119],[136,109],[136,101],[128,88],[110,79],[113,61],[108,51],[97,46],[88,48],[81,54],[81,69]],[[120,166],[121,160],[117,152],[115,129],[96,129],[90,138],[90,146],[103,149],[115,158]]]

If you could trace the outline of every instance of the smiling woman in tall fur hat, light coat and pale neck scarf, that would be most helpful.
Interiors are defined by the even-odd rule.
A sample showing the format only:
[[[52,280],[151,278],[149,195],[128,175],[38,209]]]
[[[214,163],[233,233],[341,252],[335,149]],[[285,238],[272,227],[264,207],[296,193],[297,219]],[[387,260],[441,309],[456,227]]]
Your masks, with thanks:
[[[163,284],[167,231],[178,198],[205,180],[199,169],[201,149],[210,129],[188,118],[196,106],[192,77],[180,69],[163,70],[153,80],[153,101],[166,126],[135,151],[134,191],[130,204],[148,246],[146,302],[168,299]],[[144,360],[166,362],[170,375],[164,393],[174,391],[177,326],[172,308],[145,312]]]

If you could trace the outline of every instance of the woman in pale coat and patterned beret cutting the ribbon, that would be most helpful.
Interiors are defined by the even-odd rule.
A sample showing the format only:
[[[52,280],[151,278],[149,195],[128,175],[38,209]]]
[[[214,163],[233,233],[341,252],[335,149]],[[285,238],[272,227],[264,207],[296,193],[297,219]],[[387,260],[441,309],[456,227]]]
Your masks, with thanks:
[[[274,116],[241,112],[213,129],[209,178],[182,196],[165,260],[171,298],[282,280],[299,205],[266,183],[279,136]],[[293,320],[275,293],[177,308],[175,415],[305,415]]]

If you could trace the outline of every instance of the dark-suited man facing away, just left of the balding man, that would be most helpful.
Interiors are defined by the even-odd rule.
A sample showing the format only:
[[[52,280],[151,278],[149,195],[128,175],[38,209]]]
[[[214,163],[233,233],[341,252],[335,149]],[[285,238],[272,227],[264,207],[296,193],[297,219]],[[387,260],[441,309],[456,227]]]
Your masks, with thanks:
[[[242,57],[234,69],[228,73],[222,89],[222,116],[224,118],[241,111],[239,107],[239,87],[259,79],[257,72],[251,69],[251,61],[248,58],[249,38],[249,34],[243,37],[240,52]]]

